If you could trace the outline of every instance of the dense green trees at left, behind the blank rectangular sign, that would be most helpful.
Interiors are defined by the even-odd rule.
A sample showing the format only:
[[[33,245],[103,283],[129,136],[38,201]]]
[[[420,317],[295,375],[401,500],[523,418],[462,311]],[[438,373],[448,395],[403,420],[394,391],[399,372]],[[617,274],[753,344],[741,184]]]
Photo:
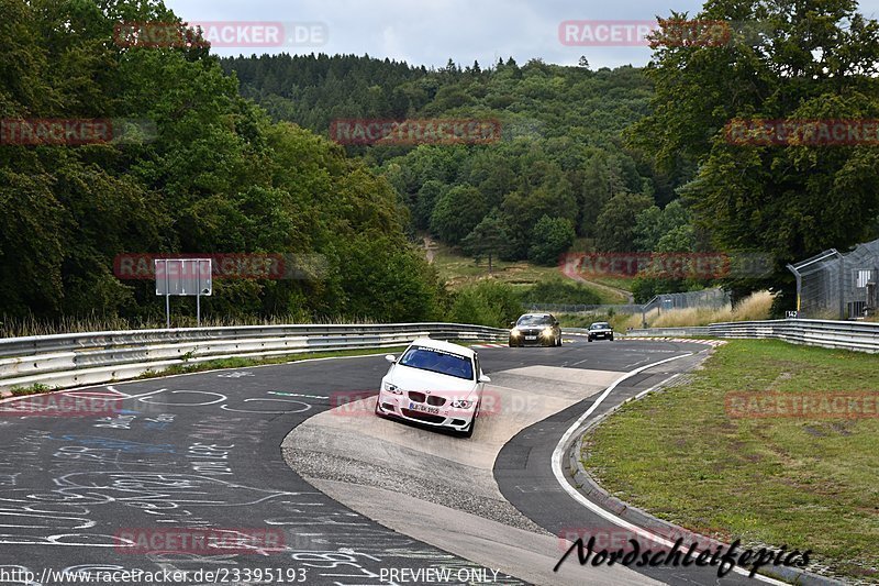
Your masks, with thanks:
[[[203,47],[123,47],[160,2],[0,0],[0,118],[148,120],[144,141],[0,145],[0,318],[164,313],[121,253],[312,254],[320,275],[218,279],[208,317],[445,314],[390,184],[342,147],[272,123]],[[181,303],[178,311],[192,311]]]

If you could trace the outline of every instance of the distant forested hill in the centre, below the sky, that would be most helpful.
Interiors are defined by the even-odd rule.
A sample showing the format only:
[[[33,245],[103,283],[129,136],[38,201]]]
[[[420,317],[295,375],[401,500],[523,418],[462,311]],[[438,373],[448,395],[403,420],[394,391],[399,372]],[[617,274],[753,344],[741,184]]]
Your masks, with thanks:
[[[411,230],[452,245],[470,236],[483,248],[476,235],[486,225],[474,230],[489,219],[505,236],[494,239],[496,252],[508,259],[552,265],[577,236],[628,251],[633,236],[621,234],[619,219],[601,217],[608,203],[675,198],[675,179],[655,174],[621,140],[653,95],[637,68],[509,58],[427,70],[353,55],[225,58],[223,67],[277,120],[323,134],[335,119],[497,118],[501,140],[488,145],[348,147],[396,188]]]

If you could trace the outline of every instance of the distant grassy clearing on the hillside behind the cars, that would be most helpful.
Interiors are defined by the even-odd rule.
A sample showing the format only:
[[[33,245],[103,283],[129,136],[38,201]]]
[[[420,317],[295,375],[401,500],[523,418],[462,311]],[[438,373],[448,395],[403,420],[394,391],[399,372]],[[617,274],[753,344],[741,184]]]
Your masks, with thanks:
[[[464,256],[456,248],[442,243],[436,243],[433,264],[439,278],[452,290],[460,289],[489,276],[487,259],[477,264],[471,257]],[[564,277],[557,266],[538,266],[525,261],[508,262],[496,258],[492,261],[492,278],[523,288]],[[623,295],[600,287],[591,287],[588,283],[583,284],[583,287],[597,295],[600,303],[626,302]]]

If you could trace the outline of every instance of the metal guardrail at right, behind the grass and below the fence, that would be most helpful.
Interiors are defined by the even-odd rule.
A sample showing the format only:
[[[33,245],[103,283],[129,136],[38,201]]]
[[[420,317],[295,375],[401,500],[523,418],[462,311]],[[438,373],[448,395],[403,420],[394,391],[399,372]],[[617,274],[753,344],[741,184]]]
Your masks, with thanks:
[[[879,323],[832,320],[767,320],[712,323],[702,328],[631,330],[626,335],[710,335],[731,339],[772,338],[793,344],[879,352]]]

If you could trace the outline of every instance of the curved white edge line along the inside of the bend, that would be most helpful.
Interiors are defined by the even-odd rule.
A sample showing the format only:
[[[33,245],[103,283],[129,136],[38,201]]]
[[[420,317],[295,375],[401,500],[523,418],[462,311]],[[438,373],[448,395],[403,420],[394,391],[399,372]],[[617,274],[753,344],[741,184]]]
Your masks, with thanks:
[[[620,383],[622,383],[626,378],[631,378],[631,377],[635,376],[636,374],[641,373],[642,371],[646,371],[647,368],[652,368],[654,366],[658,366],[658,365],[665,364],[667,362],[677,361],[678,358],[686,358],[687,356],[692,356],[692,355],[693,355],[692,353],[683,354],[681,356],[672,356],[672,357],[666,358],[664,361],[655,362],[653,364],[647,364],[646,366],[642,366],[639,368],[635,368],[634,371],[632,371],[630,373],[626,373],[623,376],[621,376],[620,378],[617,378],[616,380],[614,380],[613,384],[610,387],[608,387],[604,390],[604,392],[602,392],[601,396],[599,396],[598,399],[596,399],[596,402],[593,402],[589,407],[589,409],[587,409],[586,412],[582,416],[580,416],[580,418],[577,421],[575,421],[571,427],[568,428],[568,430],[561,436],[561,440],[559,440],[558,444],[556,445],[556,449],[553,450],[553,475],[556,477],[556,482],[558,482],[558,484],[561,486],[561,488],[574,500],[576,500],[577,502],[579,502],[580,505],[582,505],[583,507],[586,507],[590,511],[594,512],[599,517],[612,522],[613,524],[622,527],[623,529],[627,529],[627,530],[632,531],[635,534],[638,534],[638,535],[641,535],[641,537],[643,537],[645,539],[648,539],[648,540],[650,540],[650,541],[653,541],[655,543],[659,543],[660,545],[665,545],[666,548],[672,548],[675,545],[675,542],[669,541],[669,540],[667,540],[667,539],[665,539],[665,538],[663,538],[660,535],[657,535],[657,534],[655,534],[655,533],[653,533],[650,531],[647,531],[646,529],[642,529],[642,528],[639,528],[638,526],[636,526],[634,523],[630,523],[625,519],[616,517],[612,512],[602,509],[601,507],[599,507],[598,505],[596,505],[594,502],[592,502],[591,500],[586,498],[582,494],[580,494],[579,490],[574,488],[565,479],[565,475],[561,472],[561,458],[565,455],[565,446],[567,445],[568,440],[570,440],[570,438],[577,432],[577,430],[580,428],[580,425],[582,425],[583,421],[586,421],[589,418],[589,416],[592,414],[592,412],[598,408],[598,406],[601,405],[601,401],[603,401],[605,398],[608,398],[608,395],[610,395],[613,391],[613,389],[616,388],[616,386]],[[738,567],[738,566],[735,566],[733,568],[733,571],[736,574],[741,574],[743,576],[747,576],[749,574],[749,572],[747,570],[744,570],[744,568]],[[764,576],[764,575],[760,575],[760,574],[754,574],[754,579],[759,579],[761,582],[766,582],[767,584],[772,584],[775,586],[788,586],[788,584],[785,583],[785,582],[780,582],[780,581],[777,581],[775,578],[770,578],[768,576]]]

